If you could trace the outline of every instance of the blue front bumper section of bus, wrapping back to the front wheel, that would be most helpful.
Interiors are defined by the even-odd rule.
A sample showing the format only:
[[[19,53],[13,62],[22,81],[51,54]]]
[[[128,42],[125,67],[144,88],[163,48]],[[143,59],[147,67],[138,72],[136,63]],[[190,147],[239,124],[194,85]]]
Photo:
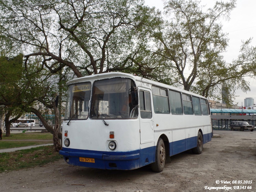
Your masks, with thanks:
[[[99,169],[132,170],[154,162],[154,147],[130,152],[103,152],[62,148],[60,154],[70,165]],[[94,158],[95,163],[80,162],[79,157]]]

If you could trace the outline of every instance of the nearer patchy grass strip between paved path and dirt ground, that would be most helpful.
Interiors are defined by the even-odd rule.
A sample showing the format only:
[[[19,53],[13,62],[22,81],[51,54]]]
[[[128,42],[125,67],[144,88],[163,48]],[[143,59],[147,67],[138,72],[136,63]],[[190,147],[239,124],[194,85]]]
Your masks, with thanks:
[[[61,159],[53,146],[41,146],[11,153],[0,153],[0,173],[32,168]]]

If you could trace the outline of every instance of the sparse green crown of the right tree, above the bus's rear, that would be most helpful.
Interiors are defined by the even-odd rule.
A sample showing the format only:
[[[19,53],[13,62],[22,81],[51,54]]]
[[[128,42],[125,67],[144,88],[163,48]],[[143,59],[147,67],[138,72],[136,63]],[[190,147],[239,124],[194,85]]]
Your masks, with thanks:
[[[228,45],[228,38],[220,22],[229,19],[235,5],[235,0],[216,2],[214,7],[206,10],[197,0],[168,0],[164,8],[168,20],[164,20],[158,10],[151,9],[141,34],[147,39],[144,47],[152,57],[144,52],[138,60],[149,64],[144,66],[151,71],[144,69],[141,73],[146,72],[151,79],[205,97],[232,103],[235,90],[249,90],[244,77],[255,73],[252,61],[255,49],[249,47],[248,41],[244,42],[241,56],[233,63],[226,63],[221,55]],[[250,65],[246,63],[248,59]]]

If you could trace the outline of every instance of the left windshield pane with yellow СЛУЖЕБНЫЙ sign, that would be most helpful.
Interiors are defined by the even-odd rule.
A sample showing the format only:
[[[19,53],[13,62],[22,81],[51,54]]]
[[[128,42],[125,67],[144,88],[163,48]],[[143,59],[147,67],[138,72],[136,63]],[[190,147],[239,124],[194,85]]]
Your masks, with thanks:
[[[68,88],[65,119],[87,119],[90,95],[90,82],[70,85]]]

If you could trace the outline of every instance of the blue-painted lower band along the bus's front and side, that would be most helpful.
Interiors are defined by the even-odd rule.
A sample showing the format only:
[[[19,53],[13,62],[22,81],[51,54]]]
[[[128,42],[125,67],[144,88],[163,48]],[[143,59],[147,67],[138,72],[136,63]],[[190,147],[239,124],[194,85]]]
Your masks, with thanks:
[[[211,141],[211,133],[203,135],[203,143]],[[169,156],[187,151],[197,146],[197,136],[169,143]],[[155,161],[156,146],[128,152],[91,151],[62,147],[60,154],[70,165],[99,169],[132,170]],[[79,157],[94,158],[94,163],[81,162]]]

